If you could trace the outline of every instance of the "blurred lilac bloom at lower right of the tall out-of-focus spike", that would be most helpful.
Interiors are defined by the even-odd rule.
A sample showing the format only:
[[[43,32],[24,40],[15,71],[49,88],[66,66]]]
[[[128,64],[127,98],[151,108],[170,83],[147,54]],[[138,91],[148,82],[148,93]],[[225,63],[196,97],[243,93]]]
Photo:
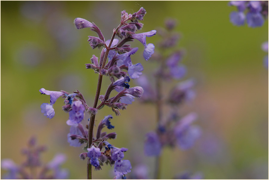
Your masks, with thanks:
[[[197,118],[195,113],[183,117],[174,128],[177,143],[182,150],[187,150],[200,136],[201,130],[198,126],[191,125]]]

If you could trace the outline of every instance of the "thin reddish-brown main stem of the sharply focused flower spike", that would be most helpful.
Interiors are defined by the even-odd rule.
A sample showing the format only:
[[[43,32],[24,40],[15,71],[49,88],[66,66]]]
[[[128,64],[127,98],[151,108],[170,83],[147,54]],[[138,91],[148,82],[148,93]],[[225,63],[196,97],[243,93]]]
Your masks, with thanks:
[[[119,28],[122,26],[122,23],[117,27],[117,29],[113,32],[113,35],[111,37],[110,43],[108,45],[108,48],[106,49],[106,54],[101,66],[101,69],[103,69],[106,65],[106,60],[108,57],[108,53],[110,50],[110,46],[113,42],[113,39],[117,33],[117,31],[119,30]],[[100,90],[101,90],[101,86],[102,86],[102,79],[103,79],[103,75],[101,75],[99,73],[99,77],[98,77],[98,83],[97,83],[97,90],[96,90],[96,94],[95,94],[95,98],[94,98],[94,105],[93,108],[97,107],[97,103],[98,103],[98,99],[100,96]],[[91,114],[91,118],[90,118],[90,125],[89,125],[89,130],[88,130],[88,148],[91,147],[92,145],[92,137],[93,137],[93,129],[94,129],[94,121],[95,121],[95,114]],[[92,170],[91,170],[91,164],[88,163],[87,161],[87,179],[92,179]]]

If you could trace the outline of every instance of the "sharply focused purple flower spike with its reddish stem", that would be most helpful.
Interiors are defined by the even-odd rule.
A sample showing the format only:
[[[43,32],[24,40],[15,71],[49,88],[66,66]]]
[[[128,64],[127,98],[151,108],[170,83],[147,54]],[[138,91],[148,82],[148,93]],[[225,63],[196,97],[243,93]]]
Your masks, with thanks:
[[[92,55],[91,63],[87,63],[86,69],[93,69],[95,73],[99,74],[97,92],[93,107],[87,105],[86,100],[80,91],[68,93],[66,91],[48,91],[41,88],[41,94],[50,95],[50,103],[43,103],[41,105],[41,112],[48,118],[53,118],[55,115],[53,104],[59,97],[64,98],[65,105],[62,109],[69,114],[67,124],[70,126],[70,133],[68,133],[68,142],[71,146],[79,147],[84,143],[87,145],[83,148],[85,153],[81,153],[80,159],[84,160],[88,157],[87,178],[91,179],[91,165],[95,170],[101,170],[103,163],[106,165],[114,165],[115,178],[124,178],[125,174],[131,172],[131,163],[129,160],[123,160],[124,152],[127,148],[116,148],[108,142],[108,139],[115,139],[116,133],[102,132],[106,126],[108,129],[113,129],[110,120],[111,115],[105,116],[100,121],[96,136],[93,137],[93,128],[95,122],[95,114],[105,105],[110,107],[112,111],[119,116],[120,111],[126,109],[128,104],[132,104],[135,97],[141,97],[143,88],[140,86],[130,87],[130,78],[138,78],[142,75],[143,66],[141,63],[133,64],[131,55],[137,52],[138,48],[132,48],[131,45],[126,44],[129,41],[137,39],[144,45],[143,57],[148,60],[154,53],[155,46],[146,43],[146,37],[151,37],[156,34],[156,30],[149,32],[138,33],[135,32],[143,27],[139,21],[143,20],[146,10],[141,7],[140,10],[133,14],[128,14],[126,11],[121,12],[120,25],[113,30],[113,35],[110,40],[105,41],[102,32],[94,24],[82,18],[76,18],[74,24],[77,29],[90,28],[96,32],[98,37],[88,36],[88,41],[92,49],[103,47],[100,60],[95,55]],[[127,21],[131,21],[127,23]],[[115,39],[117,35],[122,40],[119,42]],[[126,71],[127,72],[126,72]],[[105,95],[100,95],[102,84],[102,77],[108,76],[111,84],[108,86]],[[115,79],[117,78],[117,80]],[[116,90],[118,94],[110,97],[111,91]],[[98,99],[101,101],[97,106]],[[87,125],[84,127],[82,121],[85,119],[85,112],[91,115],[88,119]],[[105,149],[102,151],[102,149]]]

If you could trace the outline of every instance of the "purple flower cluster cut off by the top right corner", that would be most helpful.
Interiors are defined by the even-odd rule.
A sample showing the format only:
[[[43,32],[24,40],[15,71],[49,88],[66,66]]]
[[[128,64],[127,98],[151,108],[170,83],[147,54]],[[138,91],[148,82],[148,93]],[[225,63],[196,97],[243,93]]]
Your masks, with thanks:
[[[238,11],[230,13],[230,21],[237,26],[247,21],[249,27],[261,27],[268,17],[268,1],[230,1],[229,5],[237,7]]]

